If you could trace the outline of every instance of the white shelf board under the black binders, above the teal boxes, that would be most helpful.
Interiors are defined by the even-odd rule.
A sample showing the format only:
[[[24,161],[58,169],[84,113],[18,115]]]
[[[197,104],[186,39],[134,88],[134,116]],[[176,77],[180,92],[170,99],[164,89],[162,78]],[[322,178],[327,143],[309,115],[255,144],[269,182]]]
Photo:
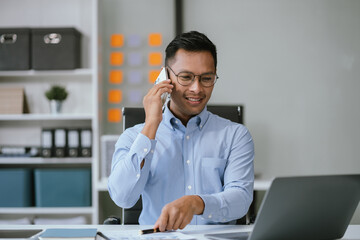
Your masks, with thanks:
[[[91,158],[0,157],[0,164],[91,164]]]

